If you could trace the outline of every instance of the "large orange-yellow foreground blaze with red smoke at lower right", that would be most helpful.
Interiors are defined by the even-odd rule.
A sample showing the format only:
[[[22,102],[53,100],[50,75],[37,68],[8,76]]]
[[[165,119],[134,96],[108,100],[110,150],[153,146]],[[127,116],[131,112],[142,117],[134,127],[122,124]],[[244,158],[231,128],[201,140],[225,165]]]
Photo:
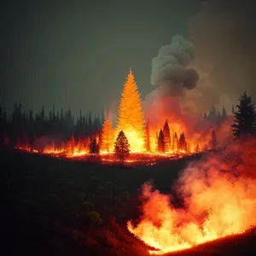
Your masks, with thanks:
[[[149,251],[154,254],[242,233],[256,224],[255,177],[255,140],[233,143],[222,153],[190,163],[172,195],[144,183],[141,218],[137,224],[129,221],[127,228],[154,247]]]

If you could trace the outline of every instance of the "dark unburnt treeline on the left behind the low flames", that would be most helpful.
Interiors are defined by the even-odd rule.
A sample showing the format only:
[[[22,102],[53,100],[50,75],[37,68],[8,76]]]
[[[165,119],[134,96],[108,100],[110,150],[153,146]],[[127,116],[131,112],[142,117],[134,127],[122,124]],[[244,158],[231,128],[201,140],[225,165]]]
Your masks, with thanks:
[[[104,113],[92,114],[91,111],[74,117],[71,109],[55,110],[55,107],[46,113],[44,106],[37,113],[32,109],[22,108],[21,103],[15,103],[12,113],[6,113],[6,109],[0,107],[0,140],[8,138],[9,145],[15,146],[17,139],[24,136],[24,132],[33,143],[35,138],[53,137],[60,140],[68,140],[71,135],[75,138],[90,137],[102,128]]]

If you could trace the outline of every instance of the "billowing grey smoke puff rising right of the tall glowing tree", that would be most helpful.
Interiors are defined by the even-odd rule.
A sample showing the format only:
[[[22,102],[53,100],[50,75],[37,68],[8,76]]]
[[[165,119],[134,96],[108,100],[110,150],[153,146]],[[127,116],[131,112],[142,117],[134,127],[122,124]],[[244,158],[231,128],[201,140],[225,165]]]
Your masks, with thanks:
[[[174,36],[171,44],[162,46],[152,60],[151,84],[165,88],[165,93],[172,96],[194,89],[199,74],[188,68],[194,56],[194,44],[180,35]]]

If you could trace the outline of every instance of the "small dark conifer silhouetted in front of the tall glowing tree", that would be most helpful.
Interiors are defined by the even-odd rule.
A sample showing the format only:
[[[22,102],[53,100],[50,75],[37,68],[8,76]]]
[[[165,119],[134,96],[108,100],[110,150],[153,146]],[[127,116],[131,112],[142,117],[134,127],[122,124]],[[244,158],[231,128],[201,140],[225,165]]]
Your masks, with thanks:
[[[124,160],[130,155],[130,145],[124,131],[120,131],[114,143],[114,153],[119,157],[120,163],[123,165]]]

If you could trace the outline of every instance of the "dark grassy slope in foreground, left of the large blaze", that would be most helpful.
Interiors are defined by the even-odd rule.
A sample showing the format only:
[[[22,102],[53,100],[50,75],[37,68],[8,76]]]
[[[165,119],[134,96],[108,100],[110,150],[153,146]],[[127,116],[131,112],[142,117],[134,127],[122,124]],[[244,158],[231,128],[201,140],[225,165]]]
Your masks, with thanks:
[[[3,244],[9,255],[26,256],[148,255],[125,226],[138,217],[139,189],[152,179],[155,188],[170,193],[190,160],[119,168],[18,151],[0,155]],[[216,247],[196,247],[189,255],[240,255]]]

